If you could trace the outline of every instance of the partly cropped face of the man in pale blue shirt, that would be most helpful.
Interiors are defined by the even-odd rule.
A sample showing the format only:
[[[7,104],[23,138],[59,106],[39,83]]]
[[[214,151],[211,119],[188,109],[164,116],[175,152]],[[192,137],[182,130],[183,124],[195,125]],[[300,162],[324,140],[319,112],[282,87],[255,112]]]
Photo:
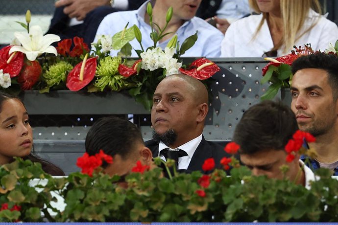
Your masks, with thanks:
[[[157,0],[162,2],[163,7],[172,7],[173,19],[190,20],[198,9],[202,0]]]

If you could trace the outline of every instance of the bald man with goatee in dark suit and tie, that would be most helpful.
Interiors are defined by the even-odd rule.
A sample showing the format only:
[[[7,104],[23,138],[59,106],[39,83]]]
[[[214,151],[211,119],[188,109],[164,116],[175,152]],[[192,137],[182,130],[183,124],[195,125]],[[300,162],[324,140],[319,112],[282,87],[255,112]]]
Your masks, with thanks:
[[[183,74],[166,77],[153,96],[153,139],[145,145],[154,157],[176,155],[178,170],[202,171],[207,158],[214,158],[220,168],[220,159],[229,156],[222,146],[204,139],[207,113],[208,91],[199,80]]]

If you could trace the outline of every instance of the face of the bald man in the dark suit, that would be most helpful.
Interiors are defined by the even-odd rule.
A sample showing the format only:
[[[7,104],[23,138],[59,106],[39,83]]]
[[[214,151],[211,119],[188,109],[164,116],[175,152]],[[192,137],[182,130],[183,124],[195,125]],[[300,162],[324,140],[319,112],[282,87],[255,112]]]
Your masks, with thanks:
[[[199,110],[189,86],[179,77],[166,78],[157,86],[151,109],[151,123],[156,133],[164,134],[172,129],[178,138],[196,137]]]

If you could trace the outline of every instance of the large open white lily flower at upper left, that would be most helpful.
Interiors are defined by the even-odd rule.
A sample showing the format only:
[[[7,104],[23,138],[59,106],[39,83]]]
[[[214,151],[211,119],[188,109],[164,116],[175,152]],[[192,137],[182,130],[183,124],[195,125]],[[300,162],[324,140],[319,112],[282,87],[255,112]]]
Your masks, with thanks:
[[[52,53],[57,56],[57,51],[50,44],[60,41],[60,37],[55,34],[43,35],[41,27],[32,26],[27,32],[15,32],[14,36],[19,40],[22,46],[14,45],[9,50],[9,54],[15,51],[24,53],[28,60],[34,61],[43,53]]]

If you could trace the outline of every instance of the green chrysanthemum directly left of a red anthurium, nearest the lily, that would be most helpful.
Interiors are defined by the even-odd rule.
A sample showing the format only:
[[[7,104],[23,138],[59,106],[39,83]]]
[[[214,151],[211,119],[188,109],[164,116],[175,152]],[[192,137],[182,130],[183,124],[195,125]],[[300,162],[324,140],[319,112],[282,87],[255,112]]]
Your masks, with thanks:
[[[72,68],[73,66],[70,63],[61,61],[51,65],[46,73],[43,74],[43,79],[47,83],[48,87],[58,85],[61,81],[66,81],[67,74],[72,70]]]

